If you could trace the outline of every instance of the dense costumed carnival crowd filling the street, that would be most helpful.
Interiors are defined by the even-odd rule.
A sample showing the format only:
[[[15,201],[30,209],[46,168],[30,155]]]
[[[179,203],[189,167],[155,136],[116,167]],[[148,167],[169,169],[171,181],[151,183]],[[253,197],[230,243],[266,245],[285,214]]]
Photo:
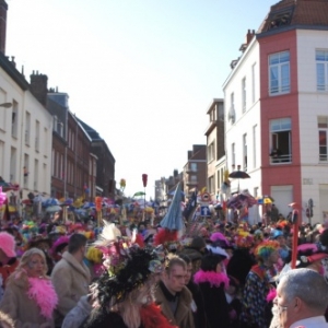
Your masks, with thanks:
[[[8,222],[0,327],[328,327],[327,223],[119,222]]]

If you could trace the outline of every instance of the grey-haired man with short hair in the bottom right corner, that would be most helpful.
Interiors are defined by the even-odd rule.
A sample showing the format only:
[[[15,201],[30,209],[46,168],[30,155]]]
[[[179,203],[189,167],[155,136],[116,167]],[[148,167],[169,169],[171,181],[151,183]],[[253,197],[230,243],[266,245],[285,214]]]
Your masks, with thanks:
[[[326,328],[328,284],[311,269],[294,269],[284,273],[277,288],[273,313],[282,328]]]

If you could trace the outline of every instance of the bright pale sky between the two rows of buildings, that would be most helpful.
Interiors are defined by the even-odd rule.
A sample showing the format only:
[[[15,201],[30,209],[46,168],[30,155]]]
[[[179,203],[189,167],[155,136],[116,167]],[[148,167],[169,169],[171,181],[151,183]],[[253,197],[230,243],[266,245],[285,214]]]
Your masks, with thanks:
[[[270,0],[7,0],[7,56],[30,81],[69,94],[69,107],[97,130],[116,159],[126,195],[181,171],[204,144],[213,98],[230,63]],[[200,186],[202,187],[202,186]]]

